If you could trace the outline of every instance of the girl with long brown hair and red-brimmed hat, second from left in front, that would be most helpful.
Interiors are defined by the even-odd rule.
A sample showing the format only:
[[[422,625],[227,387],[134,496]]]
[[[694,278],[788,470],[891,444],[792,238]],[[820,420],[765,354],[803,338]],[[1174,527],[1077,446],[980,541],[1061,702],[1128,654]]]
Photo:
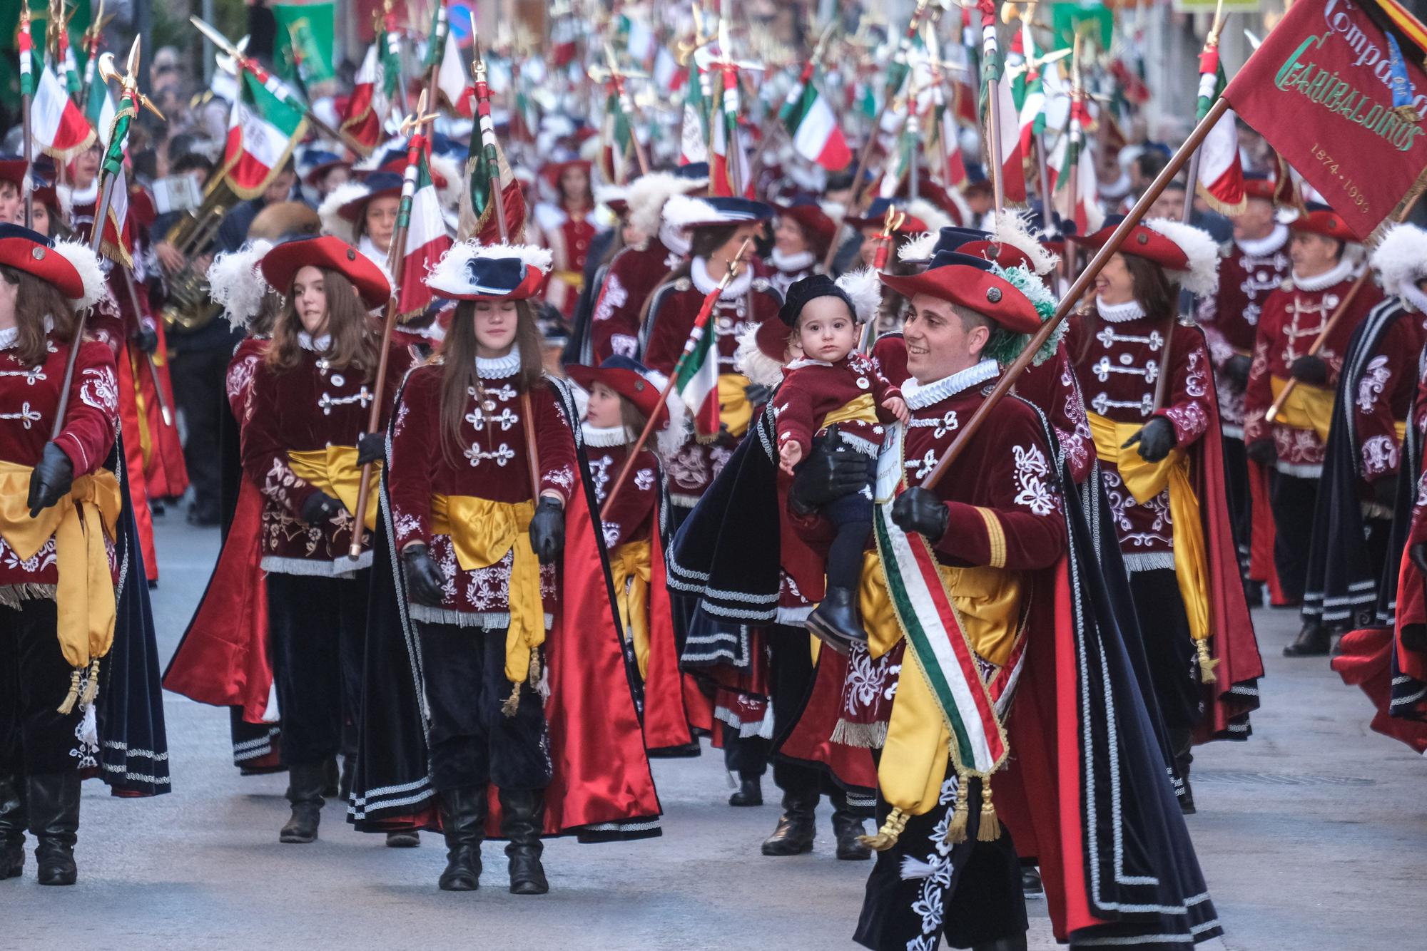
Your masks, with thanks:
[[[370,311],[387,304],[391,287],[371,261],[332,237],[280,244],[260,269],[287,302],[253,374],[243,469],[263,495],[261,566],[293,804],[280,840],[310,843],[325,763],[338,751],[351,760],[354,750],[351,737],[344,743],[342,721],[344,714],[355,720],[360,706],[375,498],[365,526],[352,513],[361,466],[382,455],[381,435],[365,432],[378,362]],[[392,349],[387,412],[410,365],[408,351]],[[355,559],[354,542],[361,550]]]

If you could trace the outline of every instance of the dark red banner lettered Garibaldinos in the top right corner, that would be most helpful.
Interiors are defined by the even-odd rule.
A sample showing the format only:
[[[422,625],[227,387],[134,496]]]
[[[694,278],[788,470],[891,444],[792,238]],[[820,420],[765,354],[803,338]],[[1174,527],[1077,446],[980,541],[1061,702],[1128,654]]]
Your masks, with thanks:
[[[1427,184],[1424,50],[1393,0],[1296,3],[1224,97],[1366,238]]]

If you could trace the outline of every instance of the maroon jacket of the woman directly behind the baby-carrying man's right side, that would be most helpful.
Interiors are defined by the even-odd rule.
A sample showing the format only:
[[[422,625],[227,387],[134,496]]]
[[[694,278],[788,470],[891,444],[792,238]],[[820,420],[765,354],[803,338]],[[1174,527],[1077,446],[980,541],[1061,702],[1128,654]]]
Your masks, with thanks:
[[[1179,321],[1173,325],[1170,378],[1164,385],[1164,406],[1156,412],[1154,388],[1164,372],[1166,319],[1072,319],[1066,348],[1075,355],[1076,376],[1083,392],[1089,394],[1086,409],[1114,422],[1146,423],[1152,416],[1164,416],[1174,425],[1174,442],[1182,449],[1204,435],[1209,426],[1206,396],[1212,379],[1204,338],[1196,328]],[[1119,468],[1106,459],[1100,459],[1100,478],[1104,479],[1126,566],[1132,572],[1173,567],[1174,528],[1170,525],[1169,489],[1146,502],[1136,502],[1120,480]]]

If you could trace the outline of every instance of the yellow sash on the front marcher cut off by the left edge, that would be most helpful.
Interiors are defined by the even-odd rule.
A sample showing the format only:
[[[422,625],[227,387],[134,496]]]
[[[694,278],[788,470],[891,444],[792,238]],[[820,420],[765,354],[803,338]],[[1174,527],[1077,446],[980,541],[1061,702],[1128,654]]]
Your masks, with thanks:
[[[104,539],[113,540],[118,525],[118,479],[107,469],[77,476],[67,496],[31,519],[26,503],[31,472],[30,466],[0,461],[0,536],[21,562],[34,557],[54,536],[56,633],[64,660],[86,667],[114,643],[114,577]]]

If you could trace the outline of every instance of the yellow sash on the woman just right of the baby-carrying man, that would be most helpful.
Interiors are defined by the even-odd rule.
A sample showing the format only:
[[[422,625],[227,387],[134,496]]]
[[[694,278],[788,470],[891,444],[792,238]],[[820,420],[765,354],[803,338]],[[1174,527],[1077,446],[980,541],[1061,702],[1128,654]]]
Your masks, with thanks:
[[[1301,386],[1299,386],[1301,389]],[[1194,640],[1209,637],[1209,557],[1204,546],[1204,523],[1199,518],[1199,498],[1189,482],[1189,459],[1183,449],[1174,449],[1159,462],[1144,462],[1137,445],[1127,449],[1124,442],[1140,429],[1140,423],[1114,422],[1100,413],[1086,413],[1095,449],[1102,459],[1113,462],[1124,488],[1134,500],[1144,503],[1169,488],[1169,518],[1174,523],[1174,580],[1189,615],[1189,633]],[[1213,433],[1210,433],[1213,435]]]

